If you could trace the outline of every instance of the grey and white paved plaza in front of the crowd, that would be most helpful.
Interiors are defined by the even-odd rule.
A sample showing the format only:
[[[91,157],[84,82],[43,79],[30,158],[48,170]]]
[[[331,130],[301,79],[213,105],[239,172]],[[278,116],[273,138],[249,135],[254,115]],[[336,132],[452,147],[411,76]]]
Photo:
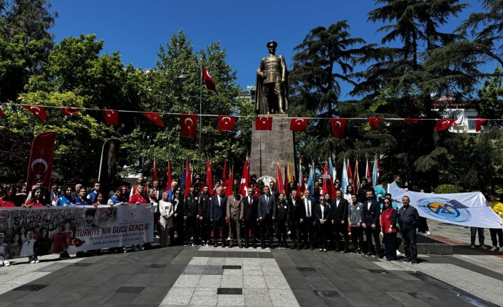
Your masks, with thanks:
[[[503,254],[430,222],[452,256],[175,246],[0,268],[0,306],[503,306]],[[486,229],[486,244],[490,245]],[[478,243],[478,242],[477,242]]]

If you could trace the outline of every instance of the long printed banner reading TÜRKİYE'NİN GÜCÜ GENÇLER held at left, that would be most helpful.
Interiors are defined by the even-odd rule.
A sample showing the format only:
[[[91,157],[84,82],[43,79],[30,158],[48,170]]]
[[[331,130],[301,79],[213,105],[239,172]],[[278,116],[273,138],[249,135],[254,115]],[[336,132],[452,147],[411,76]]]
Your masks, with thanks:
[[[65,249],[73,254],[144,244],[154,241],[154,207],[128,204],[0,209],[0,231],[12,228],[17,232],[23,227],[28,232],[26,239],[33,241],[38,256],[58,254]],[[28,252],[23,248],[21,256]]]

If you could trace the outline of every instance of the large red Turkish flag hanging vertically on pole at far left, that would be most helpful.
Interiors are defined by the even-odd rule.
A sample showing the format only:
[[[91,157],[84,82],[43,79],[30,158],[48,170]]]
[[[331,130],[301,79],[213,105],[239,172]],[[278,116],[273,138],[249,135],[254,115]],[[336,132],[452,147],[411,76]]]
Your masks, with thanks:
[[[38,180],[43,180],[44,187],[51,186],[55,142],[56,132],[42,133],[33,140],[26,179],[28,187],[33,187]]]

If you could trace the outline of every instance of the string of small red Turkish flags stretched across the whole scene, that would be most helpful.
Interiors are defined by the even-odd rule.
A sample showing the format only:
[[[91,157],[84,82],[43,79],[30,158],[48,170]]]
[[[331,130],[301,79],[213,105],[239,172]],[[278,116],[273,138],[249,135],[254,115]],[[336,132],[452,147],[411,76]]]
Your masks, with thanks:
[[[183,113],[166,113],[166,112],[146,112],[146,111],[131,111],[131,110],[108,110],[108,109],[95,109],[95,108],[74,108],[69,106],[53,106],[53,105],[24,105],[16,103],[4,103],[0,105],[0,118],[5,116],[4,106],[11,107],[22,107],[33,113],[41,121],[45,121],[48,118],[46,113],[47,108],[58,108],[61,109],[61,115],[63,117],[73,116],[81,111],[97,111],[103,113],[103,118],[105,120],[105,125],[118,125],[119,124],[119,113],[141,113],[145,118],[150,120],[155,125],[164,128],[164,122],[162,121],[161,115],[174,115],[180,118],[181,134],[185,137],[197,137],[197,117],[218,117],[218,130],[222,131],[234,131],[236,118],[255,118],[255,129],[256,130],[272,130],[273,117],[269,115],[213,115],[213,114],[183,114]],[[285,119],[285,118],[281,118]],[[435,120],[435,131],[443,131],[456,125],[456,120],[452,118],[289,118],[290,120],[290,130],[291,131],[306,131],[309,120],[330,120],[331,128],[334,137],[343,138],[344,131],[346,130],[346,124],[348,120],[366,120],[370,125],[370,130],[376,130],[378,125],[383,122],[383,120],[393,121],[399,120],[403,123],[419,123],[423,120]],[[475,131],[479,132],[482,130],[482,124],[487,121],[501,121],[502,119],[497,118],[469,118],[468,120],[473,120],[475,123]]]

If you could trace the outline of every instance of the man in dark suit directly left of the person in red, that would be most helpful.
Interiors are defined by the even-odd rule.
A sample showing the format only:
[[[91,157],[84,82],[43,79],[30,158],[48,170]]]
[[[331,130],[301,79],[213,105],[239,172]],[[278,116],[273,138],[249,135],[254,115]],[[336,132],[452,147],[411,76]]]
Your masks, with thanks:
[[[380,239],[379,239],[379,214],[380,206],[375,200],[372,191],[367,191],[367,201],[363,203],[362,210],[362,227],[365,229],[367,237],[368,251],[365,256],[372,256],[372,238],[375,241],[375,259],[380,258]]]

